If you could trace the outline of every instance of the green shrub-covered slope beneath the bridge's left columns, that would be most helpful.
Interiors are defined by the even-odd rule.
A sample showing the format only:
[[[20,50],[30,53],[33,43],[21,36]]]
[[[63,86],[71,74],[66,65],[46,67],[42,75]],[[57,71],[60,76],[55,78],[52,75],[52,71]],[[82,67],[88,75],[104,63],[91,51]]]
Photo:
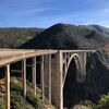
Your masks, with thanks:
[[[41,94],[38,87],[36,95],[34,95],[33,90],[33,85],[27,82],[27,95],[24,98],[21,78],[11,77],[11,109],[46,109],[46,106],[50,106],[46,98],[45,101],[41,100]],[[4,109],[2,100],[0,101],[0,109]],[[56,108],[52,107],[52,109]]]

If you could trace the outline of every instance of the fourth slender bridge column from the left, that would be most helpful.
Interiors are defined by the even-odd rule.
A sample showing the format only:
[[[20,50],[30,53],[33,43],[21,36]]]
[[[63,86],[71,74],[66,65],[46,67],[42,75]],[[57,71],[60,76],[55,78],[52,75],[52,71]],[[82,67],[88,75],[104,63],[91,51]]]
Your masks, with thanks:
[[[41,86],[41,94],[43,94],[43,100],[44,100],[44,98],[45,98],[45,86],[44,86],[44,56],[41,56],[41,70],[40,70],[40,80],[41,80],[41,82],[40,82],[40,86]]]

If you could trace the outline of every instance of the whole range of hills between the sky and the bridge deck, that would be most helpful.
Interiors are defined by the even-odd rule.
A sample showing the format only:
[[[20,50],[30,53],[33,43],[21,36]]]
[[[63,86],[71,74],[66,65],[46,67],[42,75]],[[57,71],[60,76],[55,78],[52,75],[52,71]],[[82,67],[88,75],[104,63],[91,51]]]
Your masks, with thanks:
[[[60,23],[47,29],[0,28],[0,48],[95,49],[108,45],[109,28],[99,25]]]

